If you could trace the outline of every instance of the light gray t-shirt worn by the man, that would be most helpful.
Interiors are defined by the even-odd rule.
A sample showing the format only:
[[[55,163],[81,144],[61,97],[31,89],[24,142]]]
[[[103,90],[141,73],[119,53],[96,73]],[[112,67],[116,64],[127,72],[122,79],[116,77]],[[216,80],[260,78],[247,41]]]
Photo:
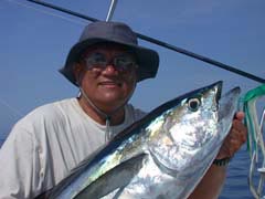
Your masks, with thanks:
[[[145,115],[131,105],[117,134]],[[105,144],[106,126],[93,121],[76,98],[38,107],[19,121],[0,149],[0,198],[34,198],[67,176]]]

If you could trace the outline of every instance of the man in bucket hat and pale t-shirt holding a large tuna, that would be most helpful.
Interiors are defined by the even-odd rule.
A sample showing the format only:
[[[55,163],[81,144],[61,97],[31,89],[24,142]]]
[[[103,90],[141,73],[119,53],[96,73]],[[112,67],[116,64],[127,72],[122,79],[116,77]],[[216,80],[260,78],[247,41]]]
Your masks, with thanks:
[[[77,98],[38,107],[19,121],[0,150],[0,198],[34,198],[145,113],[127,102],[137,82],[155,77],[157,52],[139,46],[124,23],[87,25],[61,73]],[[226,163],[246,139],[237,113],[214,164],[190,198],[216,198]]]

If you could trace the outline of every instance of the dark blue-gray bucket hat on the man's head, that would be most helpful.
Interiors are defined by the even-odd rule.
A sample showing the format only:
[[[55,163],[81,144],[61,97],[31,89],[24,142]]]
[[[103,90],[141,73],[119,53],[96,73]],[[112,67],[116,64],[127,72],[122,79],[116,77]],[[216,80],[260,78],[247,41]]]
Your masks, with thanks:
[[[159,66],[158,53],[138,45],[136,33],[127,24],[114,21],[97,21],[85,27],[80,41],[70,50],[65,65],[60,72],[77,86],[73,72],[74,63],[88,46],[102,42],[121,44],[135,53],[138,82],[156,76]]]

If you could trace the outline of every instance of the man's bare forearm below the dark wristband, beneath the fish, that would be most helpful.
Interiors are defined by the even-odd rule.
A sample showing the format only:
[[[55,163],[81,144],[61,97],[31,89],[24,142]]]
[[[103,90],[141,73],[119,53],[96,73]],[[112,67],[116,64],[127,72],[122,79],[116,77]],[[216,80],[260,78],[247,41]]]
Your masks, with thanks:
[[[189,199],[218,198],[225,181],[226,166],[212,165]]]

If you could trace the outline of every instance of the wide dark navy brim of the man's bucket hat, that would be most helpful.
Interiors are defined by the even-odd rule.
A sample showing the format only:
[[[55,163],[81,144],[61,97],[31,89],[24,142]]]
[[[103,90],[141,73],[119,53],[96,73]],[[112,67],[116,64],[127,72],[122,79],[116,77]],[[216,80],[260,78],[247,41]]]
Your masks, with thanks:
[[[115,40],[106,40],[102,38],[87,39],[83,42],[76,43],[67,55],[65,65],[60,70],[60,72],[74,85],[78,86],[74,76],[73,64],[80,59],[81,54],[88,46],[102,43],[102,42],[112,42],[116,44],[121,44],[129,50],[131,50],[137,57],[138,69],[137,69],[137,82],[140,82],[146,78],[152,78],[156,76],[159,65],[159,55],[156,51],[142,48],[140,45],[134,45],[128,43],[118,42]]]

